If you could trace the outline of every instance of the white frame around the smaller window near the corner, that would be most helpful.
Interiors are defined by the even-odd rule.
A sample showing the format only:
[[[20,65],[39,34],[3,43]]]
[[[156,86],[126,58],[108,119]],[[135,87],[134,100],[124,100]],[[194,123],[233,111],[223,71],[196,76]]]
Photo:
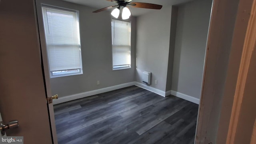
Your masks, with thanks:
[[[129,22],[130,23],[130,66],[125,64],[124,66],[126,67],[120,67],[120,68],[114,68],[113,66],[113,36],[112,36],[112,20],[119,20],[119,21],[122,21],[122,22]],[[117,19],[117,18],[111,18],[111,55],[112,55],[112,70],[125,70],[125,69],[130,69],[132,68],[132,21],[131,20],[120,20],[120,19]],[[116,66],[116,67],[119,67],[119,66]]]

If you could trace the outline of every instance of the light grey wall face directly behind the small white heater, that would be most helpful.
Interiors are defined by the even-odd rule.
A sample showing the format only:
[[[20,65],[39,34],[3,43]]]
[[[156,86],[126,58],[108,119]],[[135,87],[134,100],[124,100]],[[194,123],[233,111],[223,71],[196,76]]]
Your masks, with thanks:
[[[143,71],[152,72],[150,86],[162,91],[166,89],[171,10],[163,6],[137,17],[136,81],[142,83]]]

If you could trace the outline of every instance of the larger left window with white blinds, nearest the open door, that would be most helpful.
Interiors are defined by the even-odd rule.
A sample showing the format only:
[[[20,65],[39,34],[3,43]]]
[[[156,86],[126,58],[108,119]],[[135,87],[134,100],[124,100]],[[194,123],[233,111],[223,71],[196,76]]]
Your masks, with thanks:
[[[50,77],[82,74],[78,12],[42,6]]]

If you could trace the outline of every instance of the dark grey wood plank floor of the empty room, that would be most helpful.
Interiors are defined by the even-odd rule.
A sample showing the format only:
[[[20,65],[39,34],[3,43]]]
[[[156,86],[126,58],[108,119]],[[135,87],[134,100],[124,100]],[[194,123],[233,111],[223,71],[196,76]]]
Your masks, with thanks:
[[[197,112],[137,86],[54,105],[59,144],[193,144]]]

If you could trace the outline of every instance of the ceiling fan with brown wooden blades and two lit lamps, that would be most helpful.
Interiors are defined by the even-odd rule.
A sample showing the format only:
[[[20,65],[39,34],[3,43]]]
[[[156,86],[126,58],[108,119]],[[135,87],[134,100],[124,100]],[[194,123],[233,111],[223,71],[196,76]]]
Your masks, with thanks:
[[[127,6],[132,6],[134,8],[149,8],[149,9],[156,9],[160,10],[162,8],[161,5],[158,4],[149,4],[149,3],[144,3],[144,2],[131,2],[132,0],[108,0],[111,2],[116,2],[117,5],[114,6],[108,6],[106,8],[101,8],[99,10],[94,11],[96,12],[102,12],[104,10],[109,10],[111,8],[115,8],[112,12],[111,15],[114,16],[115,18],[118,18],[120,14],[120,9],[122,10],[122,19],[126,20],[130,17],[131,12]]]

